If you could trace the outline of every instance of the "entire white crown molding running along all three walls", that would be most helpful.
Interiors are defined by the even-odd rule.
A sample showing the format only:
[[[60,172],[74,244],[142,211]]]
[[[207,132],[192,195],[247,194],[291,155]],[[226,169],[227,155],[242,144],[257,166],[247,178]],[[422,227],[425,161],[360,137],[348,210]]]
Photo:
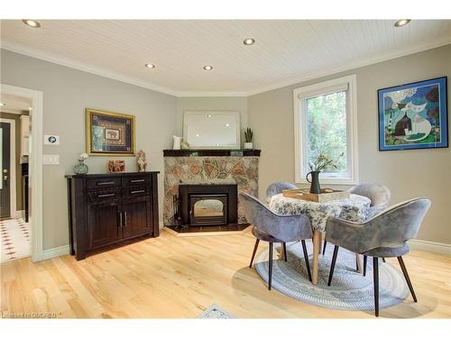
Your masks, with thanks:
[[[121,81],[133,86],[137,87],[143,87],[147,89],[151,89],[163,94],[168,94],[170,96],[177,96],[177,97],[247,97],[247,96],[254,96],[257,94],[262,94],[264,92],[268,92],[274,89],[279,89],[282,87],[288,87],[293,86],[296,84],[299,84],[301,82],[305,82],[308,80],[312,80],[315,78],[324,78],[329,75],[333,75],[336,73],[341,73],[347,70],[351,69],[358,69],[365,66],[369,66],[372,64],[380,63],[389,59],[397,59],[401,58],[403,56],[407,56],[410,54],[415,54],[420,51],[424,50],[432,50],[441,46],[446,46],[447,44],[451,44],[451,36],[450,37],[444,37],[438,41],[431,42],[425,42],[421,45],[417,45],[413,48],[407,48],[403,50],[397,50],[396,52],[389,52],[384,53],[382,55],[379,55],[377,57],[371,57],[363,60],[357,60],[357,61],[351,61],[347,62],[344,65],[340,67],[330,67],[326,69],[321,69],[319,71],[312,71],[309,73],[306,73],[305,75],[299,77],[299,78],[291,78],[289,80],[284,80],[277,82],[271,86],[265,86],[265,87],[258,87],[253,90],[249,91],[218,91],[218,92],[212,92],[212,91],[178,91],[175,89],[171,89],[168,87],[161,87],[159,85],[155,85],[151,82],[146,82],[140,79],[131,78],[124,76],[122,74],[109,71],[107,69],[101,69],[98,67],[87,65],[86,63],[78,62],[72,59],[66,59],[66,58],[60,58],[54,55],[51,55],[49,53],[41,52],[38,50],[34,50],[28,47],[24,47],[23,45],[14,44],[8,41],[2,41],[1,48],[4,50],[11,50],[19,54],[23,54],[25,56],[29,56],[35,59],[42,59],[44,61],[49,61],[52,63],[59,64],[61,66],[66,66],[71,69],[78,69],[81,71],[85,71],[87,73],[95,74],[100,77],[104,78],[111,78],[115,79],[117,81]]]

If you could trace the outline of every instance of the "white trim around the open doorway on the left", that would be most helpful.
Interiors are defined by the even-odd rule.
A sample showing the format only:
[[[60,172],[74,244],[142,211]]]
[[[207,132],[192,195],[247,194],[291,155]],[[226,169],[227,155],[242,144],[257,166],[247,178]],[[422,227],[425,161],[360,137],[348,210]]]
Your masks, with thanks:
[[[28,97],[32,100],[30,112],[30,158],[29,175],[32,203],[30,205],[30,231],[32,234],[32,261],[42,260],[42,117],[43,93],[22,87],[0,84],[0,91],[14,96]]]

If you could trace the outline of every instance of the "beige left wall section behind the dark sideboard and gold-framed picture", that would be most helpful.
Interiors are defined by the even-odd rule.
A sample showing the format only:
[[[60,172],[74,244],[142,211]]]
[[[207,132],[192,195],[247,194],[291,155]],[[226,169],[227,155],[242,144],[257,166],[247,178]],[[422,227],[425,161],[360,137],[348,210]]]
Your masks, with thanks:
[[[163,196],[162,150],[171,146],[176,127],[176,97],[161,94],[1,50],[1,83],[43,92],[43,132],[60,135],[60,145],[44,145],[44,154],[59,154],[60,165],[43,168],[44,250],[66,245],[68,206],[64,175],[72,173],[78,155],[86,151],[85,108],[136,116],[137,149],[147,154],[148,169],[160,170]],[[120,158],[120,157],[119,157]],[[133,157],[124,157],[126,170],[136,169]],[[90,157],[89,173],[105,173],[108,157]],[[160,203],[162,219],[162,203]]]

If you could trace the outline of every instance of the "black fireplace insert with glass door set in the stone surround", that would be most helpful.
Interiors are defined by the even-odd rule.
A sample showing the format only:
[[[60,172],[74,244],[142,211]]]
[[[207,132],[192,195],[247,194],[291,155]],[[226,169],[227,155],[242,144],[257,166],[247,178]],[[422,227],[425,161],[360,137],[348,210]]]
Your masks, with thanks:
[[[183,225],[236,224],[236,184],[180,184],[179,214]]]

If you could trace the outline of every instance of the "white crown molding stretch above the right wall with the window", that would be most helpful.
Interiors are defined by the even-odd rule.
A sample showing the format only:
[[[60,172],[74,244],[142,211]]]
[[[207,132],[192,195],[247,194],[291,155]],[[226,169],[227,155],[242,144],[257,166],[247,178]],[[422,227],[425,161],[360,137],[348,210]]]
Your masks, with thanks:
[[[369,66],[369,65],[373,65],[373,64],[380,63],[383,61],[387,61],[389,59],[398,59],[403,56],[418,53],[420,51],[433,50],[435,48],[446,46],[448,44],[451,44],[451,36],[445,37],[438,41],[434,41],[433,43],[430,43],[430,42],[423,43],[414,48],[403,49],[403,50],[398,50],[396,52],[385,53],[385,54],[382,54],[377,57],[367,58],[367,59],[363,59],[363,60],[351,61],[351,62],[345,63],[344,65],[342,65],[340,67],[330,67],[330,68],[326,68],[326,69],[321,69],[319,71],[313,71],[313,72],[307,73],[306,75],[299,77],[299,78],[293,78],[290,80],[280,81],[272,86],[260,87],[257,89],[250,90],[250,91],[246,92],[246,96],[262,94],[262,93],[269,92],[274,89],[293,86],[293,85],[299,84],[301,82],[305,82],[305,81],[316,79],[316,78],[324,78],[329,75],[341,73],[341,72],[351,70],[351,69],[359,69],[359,68],[362,68],[365,66]]]

